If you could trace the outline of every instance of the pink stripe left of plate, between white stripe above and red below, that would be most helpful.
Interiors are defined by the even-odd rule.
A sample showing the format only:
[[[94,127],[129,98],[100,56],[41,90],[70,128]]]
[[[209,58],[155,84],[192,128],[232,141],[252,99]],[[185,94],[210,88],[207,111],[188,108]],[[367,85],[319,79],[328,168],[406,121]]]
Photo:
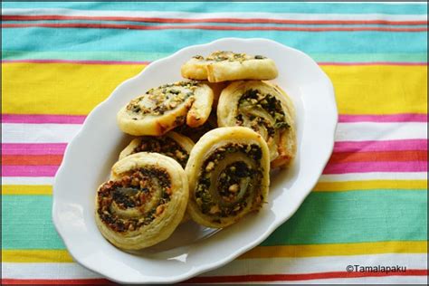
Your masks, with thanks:
[[[65,143],[3,143],[2,155],[62,155],[66,146]]]

